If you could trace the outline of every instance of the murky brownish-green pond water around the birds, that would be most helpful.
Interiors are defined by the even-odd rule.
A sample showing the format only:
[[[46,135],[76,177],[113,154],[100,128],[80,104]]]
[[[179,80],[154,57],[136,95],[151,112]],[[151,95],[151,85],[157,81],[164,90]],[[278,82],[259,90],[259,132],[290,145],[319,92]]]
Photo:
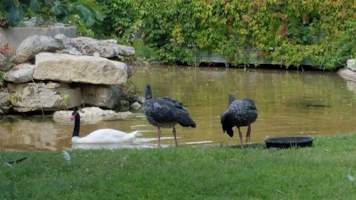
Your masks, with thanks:
[[[171,96],[190,111],[197,128],[176,126],[180,145],[237,145],[239,137],[222,130],[220,115],[228,107],[229,94],[255,100],[258,119],[252,124],[251,140],[273,136],[327,136],[355,132],[354,83],[335,72],[259,68],[134,68],[130,79],[144,95],[146,84],[154,97]],[[125,132],[142,131],[144,145],[154,147],[157,129],[148,124],[143,111],[129,121],[82,123],[81,133],[101,128]],[[70,116],[69,116],[70,117]],[[69,149],[73,123],[54,123],[51,117],[0,118],[0,149]],[[242,127],[245,135],[247,127]],[[172,129],[162,129],[162,144],[174,145]],[[150,140],[152,139],[152,140]],[[75,147],[73,147],[75,148]]]

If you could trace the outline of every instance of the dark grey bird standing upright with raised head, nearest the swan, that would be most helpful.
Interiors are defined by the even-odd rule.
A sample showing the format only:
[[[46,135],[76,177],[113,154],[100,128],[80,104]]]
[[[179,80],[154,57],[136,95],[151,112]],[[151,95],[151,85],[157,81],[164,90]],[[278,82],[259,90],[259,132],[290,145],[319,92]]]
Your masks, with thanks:
[[[160,97],[153,99],[150,85],[146,86],[145,101],[143,103],[144,113],[150,124],[157,127],[158,148],[161,147],[161,128],[172,128],[175,146],[178,146],[177,132],[175,125],[181,124],[183,127],[195,128],[197,124],[190,117],[188,110],[182,106],[178,100],[170,97]]]

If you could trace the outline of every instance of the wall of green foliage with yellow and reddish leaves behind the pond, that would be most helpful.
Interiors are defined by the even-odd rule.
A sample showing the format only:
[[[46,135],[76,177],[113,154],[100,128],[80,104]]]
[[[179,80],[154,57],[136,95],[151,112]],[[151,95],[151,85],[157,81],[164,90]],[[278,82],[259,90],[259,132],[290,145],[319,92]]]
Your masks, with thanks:
[[[195,64],[203,51],[233,64],[254,59],[333,69],[354,56],[352,1],[104,0],[102,6],[104,35],[125,44],[141,38],[160,60]]]

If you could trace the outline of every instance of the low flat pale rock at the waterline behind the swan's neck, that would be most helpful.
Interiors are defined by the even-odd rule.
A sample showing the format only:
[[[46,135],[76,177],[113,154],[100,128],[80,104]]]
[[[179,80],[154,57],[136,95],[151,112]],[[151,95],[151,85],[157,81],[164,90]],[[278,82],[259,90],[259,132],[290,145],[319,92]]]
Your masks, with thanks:
[[[56,111],[53,115],[55,122],[69,122],[72,111]],[[129,120],[134,118],[132,112],[115,112],[113,110],[103,110],[97,107],[82,108],[79,110],[80,119],[85,122],[109,121],[109,120]]]

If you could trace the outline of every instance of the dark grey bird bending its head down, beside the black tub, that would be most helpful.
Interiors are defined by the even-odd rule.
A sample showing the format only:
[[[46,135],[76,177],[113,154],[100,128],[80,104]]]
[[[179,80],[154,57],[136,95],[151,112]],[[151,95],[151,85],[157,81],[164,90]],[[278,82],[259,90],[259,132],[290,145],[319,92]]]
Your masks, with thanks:
[[[229,108],[223,112],[221,116],[221,121],[223,125],[223,132],[227,132],[230,137],[233,136],[232,127],[237,126],[238,129],[241,126],[248,126],[246,141],[251,138],[251,124],[257,119],[258,113],[255,107],[254,100],[244,98],[242,100],[235,100],[235,97],[229,95]],[[239,141],[241,148],[243,148],[242,143],[242,133],[239,129]]]

